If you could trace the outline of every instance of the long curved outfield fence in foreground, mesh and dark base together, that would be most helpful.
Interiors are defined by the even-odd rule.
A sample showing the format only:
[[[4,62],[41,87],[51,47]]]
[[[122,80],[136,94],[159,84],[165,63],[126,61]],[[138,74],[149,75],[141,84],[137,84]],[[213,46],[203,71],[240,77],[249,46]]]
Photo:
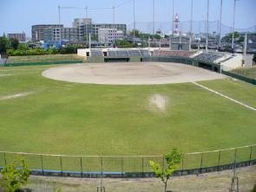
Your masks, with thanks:
[[[79,177],[151,177],[149,160],[166,167],[164,156],[65,156],[0,152],[0,166],[24,158],[33,175]],[[227,150],[186,153],[176,176],[200,174],[256,164],[256,144]]]

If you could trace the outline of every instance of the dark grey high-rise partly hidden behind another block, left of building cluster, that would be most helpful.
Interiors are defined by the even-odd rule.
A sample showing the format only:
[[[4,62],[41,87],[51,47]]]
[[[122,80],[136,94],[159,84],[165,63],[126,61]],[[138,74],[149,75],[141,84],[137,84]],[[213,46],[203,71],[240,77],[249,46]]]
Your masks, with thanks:
[[[33,25],[31,29],[32,33],[32,41],[44,41],[44,30],[45,29],[56,29],[56,28],[63,28],[63,25],[58,24],[43,24],[43,25]]]

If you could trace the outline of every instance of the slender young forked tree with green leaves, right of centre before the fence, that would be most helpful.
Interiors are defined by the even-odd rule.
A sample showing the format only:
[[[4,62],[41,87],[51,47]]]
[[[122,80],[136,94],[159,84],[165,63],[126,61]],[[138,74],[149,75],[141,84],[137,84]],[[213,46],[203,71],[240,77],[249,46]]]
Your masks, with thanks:
[[[174,171],[179,168],[181,163],[181,159],[183,157],[183,153],[176,148],[174,148],[171,153],[164,156],[167,161],[167,169],[161,169],[159,163],[155,163],[154,161],[149,161],[152,169],[154,170],[154,174],[157,178],[160,178],[164,183],[164,191],[167,192],[167,182],[170,177],[173,175]]]

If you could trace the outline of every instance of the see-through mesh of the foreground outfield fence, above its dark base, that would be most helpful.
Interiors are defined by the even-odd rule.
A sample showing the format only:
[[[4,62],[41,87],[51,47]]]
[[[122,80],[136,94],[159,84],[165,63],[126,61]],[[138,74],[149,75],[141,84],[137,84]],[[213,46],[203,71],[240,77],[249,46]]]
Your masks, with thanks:
[[[149,161],[167,167],[164,156],[133,156],[133,157],[85,157],[41,155],[32,153],[0,152],[0,167],[7,163],[24,159],[30,170],[56,170],[70,172],[115,172],[115,173],[143,173],[152,172]],[[256,145],[233,148],[228,150],[214,150],[202,153],[184,154],[180,170],[201,170],[204,168],[230,166],[234,163],[252,163],[256,161]]]

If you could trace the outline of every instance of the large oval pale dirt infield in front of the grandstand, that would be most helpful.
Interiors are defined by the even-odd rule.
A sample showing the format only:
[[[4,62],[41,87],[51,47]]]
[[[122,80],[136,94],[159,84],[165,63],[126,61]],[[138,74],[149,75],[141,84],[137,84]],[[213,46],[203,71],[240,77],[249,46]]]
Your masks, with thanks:
[[[49,68],[43,76],[52,80],[108,85],[153,85],[225,78],[200,67],[164,62],[77,64]]]

